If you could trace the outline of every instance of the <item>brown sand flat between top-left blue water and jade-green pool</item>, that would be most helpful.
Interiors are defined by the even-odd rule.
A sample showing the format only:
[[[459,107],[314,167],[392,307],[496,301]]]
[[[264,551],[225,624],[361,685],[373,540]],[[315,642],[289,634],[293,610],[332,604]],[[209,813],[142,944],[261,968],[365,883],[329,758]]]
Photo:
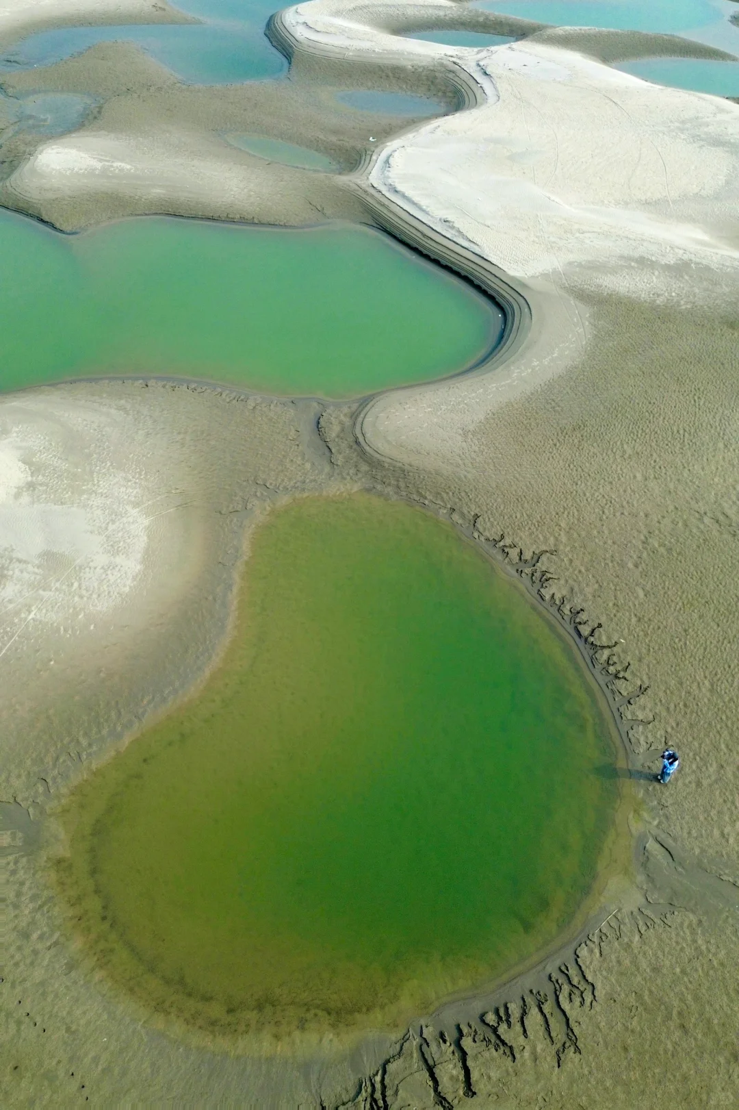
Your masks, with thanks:
[[[186,85],[131,43],[99,43],[6,83],[17,93],[90,88],[101,103],[78,132],[85,149],[104,158],[112,141],[119,161],[124,149],[146,174],[145,185],[130,189],[120,181],[77,189],[68,174],[37,194],[11,179],[38,149],[38,137],[19,132],[7,140],[0,200],[64,231],[156,213],[292,225],[362,219],[334,174],[265,162],[235,149],[224,133],[264,133],[313,147],[346,171],[361,161],[370,134],[383,141],[398,130],[392,117],[361,113],[357,120],[360,113],[342,105],[334,88],[306,90],[293,81]],[[203,168],[202,182],[193,178],[193,164]],[[152,188],[158,172],[162,181]]]

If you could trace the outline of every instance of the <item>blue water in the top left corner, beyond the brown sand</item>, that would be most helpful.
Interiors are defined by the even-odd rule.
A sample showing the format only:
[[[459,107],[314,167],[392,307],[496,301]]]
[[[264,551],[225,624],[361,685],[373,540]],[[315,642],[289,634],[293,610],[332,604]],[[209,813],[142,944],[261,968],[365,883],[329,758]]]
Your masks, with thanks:
[[[40,31],[0,58],[0,70],[50,65],[97,42],[126,41],[189,83],[229,84],[286,72],[287,62],[264,34],[274,0],[184,0],[178,8],[207,22]]]

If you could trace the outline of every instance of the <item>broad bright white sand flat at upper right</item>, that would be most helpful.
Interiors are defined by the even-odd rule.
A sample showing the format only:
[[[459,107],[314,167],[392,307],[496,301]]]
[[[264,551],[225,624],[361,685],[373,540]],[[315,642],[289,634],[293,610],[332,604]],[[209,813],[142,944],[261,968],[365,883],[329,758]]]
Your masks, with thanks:
[[[721,234],[739,203],[736,105],[534,43],[478,65],[495,98],[389,143],[373,186],[512,276],[645,255],[739,264]]]

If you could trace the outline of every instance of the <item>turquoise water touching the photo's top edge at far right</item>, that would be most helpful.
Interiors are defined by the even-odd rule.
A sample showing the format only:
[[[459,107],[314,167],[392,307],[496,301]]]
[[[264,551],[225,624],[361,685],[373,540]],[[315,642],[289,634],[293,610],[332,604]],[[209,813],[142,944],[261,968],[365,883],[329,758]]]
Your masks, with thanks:
[[[604,27],[680,34],[739,53],[730,0],[478,0],[476,8],[559,27]]]

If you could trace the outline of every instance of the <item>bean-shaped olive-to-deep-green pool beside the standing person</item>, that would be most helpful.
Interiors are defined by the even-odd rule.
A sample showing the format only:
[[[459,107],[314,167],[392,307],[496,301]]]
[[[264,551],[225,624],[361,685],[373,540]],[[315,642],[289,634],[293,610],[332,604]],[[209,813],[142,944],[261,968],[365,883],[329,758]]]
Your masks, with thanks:
[[[72,794],[58,885],[150,1011],[391,1027],[571,921],[614,751],[574,646],[451,525],[295,501],[252,537],[204,686]]]

